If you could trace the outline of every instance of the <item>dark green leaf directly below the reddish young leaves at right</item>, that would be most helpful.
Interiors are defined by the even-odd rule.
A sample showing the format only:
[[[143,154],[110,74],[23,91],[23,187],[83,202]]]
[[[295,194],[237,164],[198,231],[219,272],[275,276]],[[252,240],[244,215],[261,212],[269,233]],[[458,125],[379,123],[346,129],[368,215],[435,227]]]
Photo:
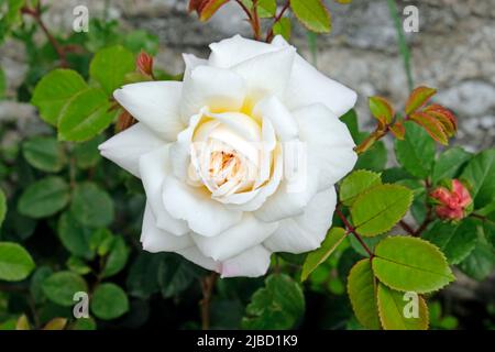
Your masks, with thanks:
[[[395,141],[395,155],[404,168],[418,178],[429,176],[435,160],[435,141],[414,122],[405,124],[406,138]]]

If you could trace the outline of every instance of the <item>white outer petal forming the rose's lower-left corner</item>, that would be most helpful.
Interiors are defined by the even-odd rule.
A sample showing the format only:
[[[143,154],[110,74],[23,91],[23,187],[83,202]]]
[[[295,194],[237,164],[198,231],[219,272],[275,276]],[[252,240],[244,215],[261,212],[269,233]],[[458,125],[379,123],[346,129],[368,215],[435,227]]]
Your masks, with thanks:
[[[141,230],[143,250],[152,253],[170,252],[186,249],[194,244],[189,235],[174,235],[156,227],[156,219],[146,204]]]

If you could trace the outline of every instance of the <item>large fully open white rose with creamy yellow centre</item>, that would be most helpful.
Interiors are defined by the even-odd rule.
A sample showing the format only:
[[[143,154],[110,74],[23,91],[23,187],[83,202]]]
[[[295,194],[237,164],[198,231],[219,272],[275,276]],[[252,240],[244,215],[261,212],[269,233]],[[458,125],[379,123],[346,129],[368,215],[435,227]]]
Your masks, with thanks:
[[[320,246],[334,184],[356,162],[339,120],[356,94],[327,78],[282,36],[239,35],[184,55],[184,81],[113,96],[139,123],[100,145],[143,182],[148,252],[175,252],[222,277],[261,276],[273,252]]]

